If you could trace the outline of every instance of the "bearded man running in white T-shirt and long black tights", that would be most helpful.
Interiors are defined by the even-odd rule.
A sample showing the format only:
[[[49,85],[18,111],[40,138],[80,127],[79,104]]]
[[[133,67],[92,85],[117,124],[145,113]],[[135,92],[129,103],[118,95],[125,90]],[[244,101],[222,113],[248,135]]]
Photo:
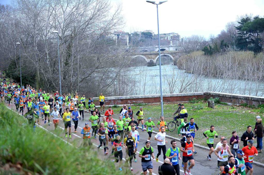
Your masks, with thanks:
[[[162,152],[163,152],[163,160],[166,159],[166,143],[167,143],[167,140],[165,140],[166,138],[166,133],[165,133],[165,128],[164,126],[161,127],[161,132],[159,132],[157,135],[155,135],[155,138],[154,140],[157,140],[158,141],[158,154],[156,156],[156,161],[158,162],[159,161],[159,155],[161,155],[161,149],[162,149]]]

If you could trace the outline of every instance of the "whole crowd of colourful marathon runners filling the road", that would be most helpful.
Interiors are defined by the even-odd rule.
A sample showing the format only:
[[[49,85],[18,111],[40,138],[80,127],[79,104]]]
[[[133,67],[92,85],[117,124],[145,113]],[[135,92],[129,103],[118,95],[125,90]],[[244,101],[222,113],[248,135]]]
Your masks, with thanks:
[[[16,111],[22,115],[25,113],[24,110],[27,110],[25,116],[33,114],[36,117],[35,121],[31,120],[33,128],[36,127],[35,123],[40,124],[41,119],[44,124],[47,123],[50,126],[50,118],[52,118],[54,128],[56,129],[59,124],[59,118],[61,117],[65,126],[64,132],[66,138],[72,138],[71,120],[74,122],[74,132],[76,133],[78,121],[84,120],[85,112],[89,113],[91,116],[88,118],[88,121],[91,122],[91,125],[88,122],[85,123],[81,131],[83,135],[83,146],[90,146],[93,142],[91,138],[97,139],[96,135],[98,135],[100,142],[100,145],[97,147],[98,150],[103,146],[103,154],[107,155],[107,149],[111,149],[111,154],[115,157],[112,162],[119,162],[118,167],[120,171],[122,171],[123,151],[128,155],[126,161],[129,162],[131,171],[133,171],[133,159],[134,163],[138,162],[136,152],[140,141],[139,130],[141,132],[147,132],[148,134],[148,140],[144,141],[145,146],[139,148],[138,156],[141,158],[143,170],[141,174],[147,174],[147,170],[149,174],[152,174],[152,159],[158,162],[161,154],[163,154],[164,164],[159,167],[159,174],[179,175],[179,160],[182,161],[183,175],[191,175],[191,169],[195,166],[194,157],[197,152],[194,147],[194,139],[199,127],[195,123],[194,118],[189,117],[190,119],[188,119],[188,113],[183,104],[178,104],[178,109],[173,113],[173,115],[176,115],[176,118],[182,120],[181,125],[178,127],[178,135],[181,136],[181,145],[177,147],[176,140],[171,140],[171,147],[167,149],[167,123],[164,120],[164,116],[160,117],[157,124],[154,124],[151,117],[148,117],[147,121],[144,122],[145,113],[143,107],[140,107],[134,115],[131,107],[124,105],[119,114],[115,114],[111,106],[105,110],[105,96],[103,94],[99,96],[98,106],[100,108],[97,108],[92,98],[86,100],[84,94],[79,96],[78,93],[63,93],[61,95],[58,91],[49,94],[41,88],[36,90],[30,85],[20,87],[15,82],[7,82],[6,79],[1,81],[0,87],[2,103],[7,103],[9,106],[15,105]],[[115,121],[113,119],[114,115],[118,116],[118,120]],[[102,121],[100,121],[101,117]],[[219,174],[245,175],[248,172],[250,175],[253,174],[253,158],[262,152],[263,137],[261,117],[257,116],[256,121],[253,132],[252,127],[248,126],[247,131],[243,133],[240,139],[234,129],[232,136],[230,133],[229,145],[225,137],[220,137],[221,141],[214,147],[214,138],[218,138],[214,125],[211,125],[210,129],[203,133],[204,137],[206,137],[206,143],[210,148],[206,159],[208,161],[216,161],[217,159],[217,166],[220,170]],[[154,127],[159,129],[159,132],[154,136],[154,140],[157,141],[157,153],[154,153],[153,147],[150,146]],[[257,148],[253,146],[256,136],[258,140]],[[242,149],[239,148],[238,144],[241,141],[243,142]],[[110,145],[111,148],[109,148]],[[259,149],[259,152],[257,149]],[[214,158],[211,157],[213,152],[216,155]]]

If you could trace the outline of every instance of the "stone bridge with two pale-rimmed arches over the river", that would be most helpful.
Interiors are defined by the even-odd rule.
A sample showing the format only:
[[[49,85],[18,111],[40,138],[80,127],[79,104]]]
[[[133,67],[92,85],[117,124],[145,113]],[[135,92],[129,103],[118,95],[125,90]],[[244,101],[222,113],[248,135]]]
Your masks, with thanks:
[[[182,52],[182,51],[164,51],[164,52],[161,52],[161,56],[166,55],[166,56],[170,57],[173,60],[173,62],[177,62],[178,58],[180,56],[182,56],[183,54],[184,54],[184,52]],[[132,55],[132,59],[134,59],[136,57],[141,57],[142,59],[144,59],[147,62],[148,66],[152,66],[152,65],[156,65],[156,62],[159,58],[159,53],[158,52],[134,53]]]

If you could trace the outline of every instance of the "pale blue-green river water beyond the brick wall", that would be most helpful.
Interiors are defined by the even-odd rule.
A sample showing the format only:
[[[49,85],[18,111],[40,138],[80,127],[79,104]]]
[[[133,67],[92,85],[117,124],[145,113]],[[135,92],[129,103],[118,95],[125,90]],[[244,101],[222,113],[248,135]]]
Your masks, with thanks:
[[[158,63],[158,62],[157,62]],[[264,83],[235,79],[208,78],[186,73],[174,65],[162,67],[163,93],[188,93],[214,91],[231,94],[264,96]],[[159,66],[134,67],[134,95],[159,94]]]

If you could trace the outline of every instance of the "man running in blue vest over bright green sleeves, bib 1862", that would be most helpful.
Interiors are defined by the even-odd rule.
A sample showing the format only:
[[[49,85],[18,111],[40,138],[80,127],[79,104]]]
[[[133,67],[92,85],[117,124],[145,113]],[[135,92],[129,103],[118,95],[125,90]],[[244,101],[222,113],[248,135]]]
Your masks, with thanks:
[[[176,174],[180,175],[179,160],[181,160],[180,148],[176,147],[176,140],[171,140],[171,147],[166,152],[166,158],[170,159],[172,166],[174,167]]]

